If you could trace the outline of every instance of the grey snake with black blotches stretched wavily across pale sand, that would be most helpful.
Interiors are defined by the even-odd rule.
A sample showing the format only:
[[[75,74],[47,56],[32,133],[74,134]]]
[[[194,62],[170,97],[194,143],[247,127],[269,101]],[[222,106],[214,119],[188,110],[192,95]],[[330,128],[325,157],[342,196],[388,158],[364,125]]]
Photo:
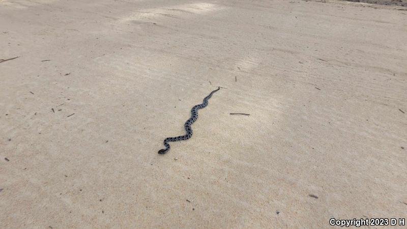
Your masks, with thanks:
[[[208,96],[206,96],[203,99],[203,102],[201,104],[195,105],[192,107],[191,109],[191,117],[185,122],[184,124],[184,128],[185,128],[185,135],[181,135],[178,137],[169,137],[164,139],[164,149],[160,149],[158,151],[158,154],[164,154],[166,152],[169,151],[169,149],[171,148],[171,146],[168,144],[168,142],[178,142],[178,141],[185,141],[188,140],[192,137],[192,128],[191,125],[196,121],[196,119],[198,118],[198,110],[205,108],[206,106],[208,106],[208,100],[211,99],[212,95],[218,91],[220,89],[220,87],[218,87],[218,89],[213,90]]]

